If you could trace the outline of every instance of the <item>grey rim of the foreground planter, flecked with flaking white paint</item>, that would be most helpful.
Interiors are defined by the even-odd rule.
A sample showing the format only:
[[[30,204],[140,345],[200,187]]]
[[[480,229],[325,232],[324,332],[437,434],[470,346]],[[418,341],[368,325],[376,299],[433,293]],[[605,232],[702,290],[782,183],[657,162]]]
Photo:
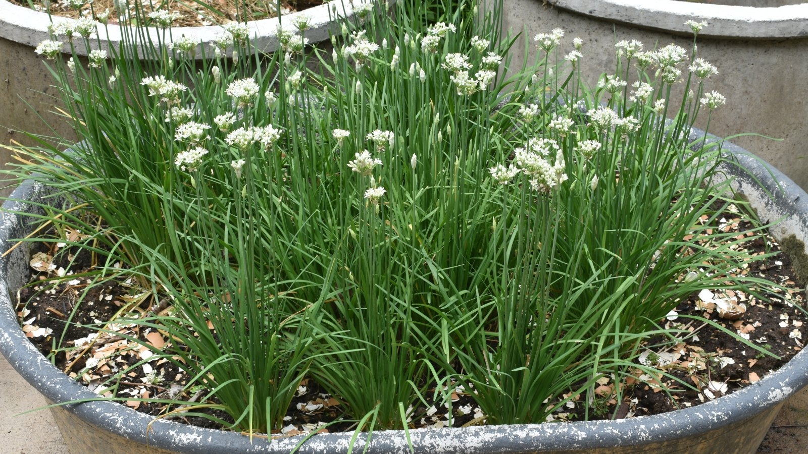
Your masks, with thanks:
[[[694,130],[691,140],[701,141],[703,132]],[[707,137],[708,141],[721,141]],[[776,238],[797,232],[805,236],[808,226],[808,194],[778,170],[753,157],[737,145],[725,142],[723,149],[731,154],[739,166],[724,166],[726,174],[736,177],[734,187],[757,205],[764,220],[788,218],[772,229]],[[745,169],[743,170],[742,169]],[[0,243],[19,238],[23,220],[15,212],[27,212],[32,204],[26,200],[43,200],[48,188],[27,181],[3,204],[0,214]],[[781,228],[782,227],[782,228]],[[6,249],[6,248],[3,248]],[[27,267],[27,258],[14,254],[0,263],[0,352],[9,363],[40,393],[54,402],[98,398],[83,385],[65,376],[55,368],[30,342],[19,328],[14,306],[9,296],[9,276],[14,271],[10,264]],[[19,274],[19,272],[17,273]],[[511,426],[457,427],[444,429],[416,429],[384,431],[373,435],[367,452],[406,453],[408,439],[419,454],[432,452],[527,453],[553,449],[621,448],[680,439],[698,435],[719,427],[729,426],[760,414],[778,405],[799,389],[808,385],[808,351],[803,350],[776,372],[763,380],[736,391],[729,396],[705,402],[684,410],[666,414],[621,419],[617,421],[567,422],[556,424],[521,424]],[[190,427],[179,422],[158,420],[110,401],[88,401],[66,406],[69,411],[86,422],[128,439],[148,443],[154,448],[176,452],[291,452],[301,443],[303,435],[291,438],[254,438],[252,441],[234,432]],[[151,427],[149,429],[149,424]],[[297,452],[322,454],[347,452],[352,434],[319,434],[305,441]],[[366,437],[357,437],[356,452],[362,452]]]

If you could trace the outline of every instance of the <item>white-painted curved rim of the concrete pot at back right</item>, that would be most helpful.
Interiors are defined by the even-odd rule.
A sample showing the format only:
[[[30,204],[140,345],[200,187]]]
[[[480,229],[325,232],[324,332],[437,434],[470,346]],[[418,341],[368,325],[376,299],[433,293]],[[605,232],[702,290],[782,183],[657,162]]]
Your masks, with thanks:
[[[776,7],[711,5],[675,0],[549,0],[555,7],[600,19],[692,35],[686,20],[706,22],[699,36],[777,39],[808,36],[808,3]]]

